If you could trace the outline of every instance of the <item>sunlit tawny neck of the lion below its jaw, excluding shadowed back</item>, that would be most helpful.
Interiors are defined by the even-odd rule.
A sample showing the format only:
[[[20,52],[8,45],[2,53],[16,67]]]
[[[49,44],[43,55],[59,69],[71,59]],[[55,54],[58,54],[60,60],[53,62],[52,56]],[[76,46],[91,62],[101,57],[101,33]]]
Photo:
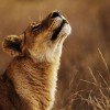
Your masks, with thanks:
[[[16,62],[19,62],[16,66],[22,70],[18,69],[13,72],[13,76],[10,76],[14,81],[16,92],[24,101],[30,102],[32,110],[36,110],[35,108],[48,110],[55,97],[59,62],[34,63],[32,59],[24,61],[24,58],[21,63]]]

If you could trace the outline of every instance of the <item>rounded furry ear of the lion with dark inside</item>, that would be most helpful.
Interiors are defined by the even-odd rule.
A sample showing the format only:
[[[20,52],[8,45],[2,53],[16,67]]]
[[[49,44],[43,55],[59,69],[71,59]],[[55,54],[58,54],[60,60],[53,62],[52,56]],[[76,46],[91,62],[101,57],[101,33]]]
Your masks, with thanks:
[[[9,35],[3,41],[3,51],[12,56],[18,56],[22,53],[22,35]]]

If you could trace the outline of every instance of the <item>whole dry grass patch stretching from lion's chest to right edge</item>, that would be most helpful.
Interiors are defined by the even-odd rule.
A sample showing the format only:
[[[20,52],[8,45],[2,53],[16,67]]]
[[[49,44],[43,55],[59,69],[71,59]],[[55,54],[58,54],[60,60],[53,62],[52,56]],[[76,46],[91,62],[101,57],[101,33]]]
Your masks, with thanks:
[[[99,48],[98,53],[107,72],[105,73],[105,75],[107,75],[110,79],[108,64]],[[81,86],[84,86],[82,88],[85,88],[86,86],[87,88],[80,89],[80,87],[78,87],[80,85],[79,81],[77,81],[79,84],[76,84],[77,89],[73,88],[73,86],[75,85],[75,77],[77,76],[76,73],[75,76],[72,76],[72,80],[69,80],[69,87],[67,88],[67,91],[65,91],[66,102],[62,103],[64,100],[59,99],[63,92],[61,91],[59,96],[57,96],[58,102],[56,102],[56,105],[59,102],[61,105],[54,108],[55,110],[110,110],[110,81],[107,81],[105,79],[100,70],[96,72],[96,76],[90,67],[88,67],[87,69],[88,76],[90,76],[91,79],[79,79],[79,81],[81,81]]]

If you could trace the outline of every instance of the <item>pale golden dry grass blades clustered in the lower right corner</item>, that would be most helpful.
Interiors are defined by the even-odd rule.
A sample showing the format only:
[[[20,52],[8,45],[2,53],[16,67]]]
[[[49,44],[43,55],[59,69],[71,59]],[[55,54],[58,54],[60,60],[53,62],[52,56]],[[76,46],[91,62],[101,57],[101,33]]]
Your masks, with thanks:
[[[99,48],[98,48],[98,52],[99,52],[100,57],[106,66],[107,74],[109,75],[108,77],[110,77],[108,64],[106,63],[103,55]],[[94,85],[97,88],[98,97],[96,95],[92,95],[95,92],[95,89],[91,89],[89,91],[89,96],[87,99],[78,94],[79,97],[81,98],[81,100],[84,100],[88,105],[90,105],[94,110],[110,110],[110,85],[106,81],[106,79],[102,77],[100,72],[97,72],[97,73],[98,73],[100,79],[102,79],[102,81],[97,80],[97,77],[94,75],[91,68],[88,68],[88,69],[90,72],[90,76],[92,77],[94,81],[90,82],[88,80],[82,80],[82,79],[81,79],[81,81]],[[105,84],[105,86],[103,86],[103,84]]]

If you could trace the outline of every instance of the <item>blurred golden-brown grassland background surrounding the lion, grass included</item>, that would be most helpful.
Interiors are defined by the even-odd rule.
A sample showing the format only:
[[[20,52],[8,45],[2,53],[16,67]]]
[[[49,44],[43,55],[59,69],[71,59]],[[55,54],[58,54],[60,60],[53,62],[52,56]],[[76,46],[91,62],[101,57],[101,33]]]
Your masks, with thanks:
[[[0,45],[53,10],[73,28],[63,48],[54,110],[110,110],[110,0],[0,0]],[[0,46],[0,74],[11,59]]]

